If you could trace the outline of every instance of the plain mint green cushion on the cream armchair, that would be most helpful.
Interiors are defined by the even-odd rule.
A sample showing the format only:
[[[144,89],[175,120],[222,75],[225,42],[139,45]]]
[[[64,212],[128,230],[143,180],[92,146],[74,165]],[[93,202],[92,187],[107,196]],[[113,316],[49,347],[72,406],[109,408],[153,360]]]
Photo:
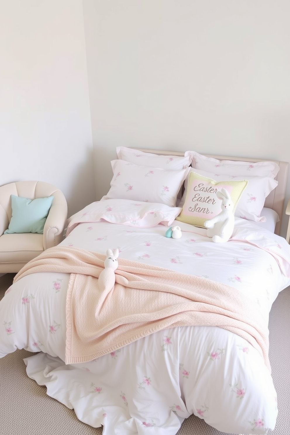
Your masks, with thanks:
[[[8,230],[11,233],[43,234],[43,228],[53,196],[47,198],[27,199],[11,195],[12,218]]]

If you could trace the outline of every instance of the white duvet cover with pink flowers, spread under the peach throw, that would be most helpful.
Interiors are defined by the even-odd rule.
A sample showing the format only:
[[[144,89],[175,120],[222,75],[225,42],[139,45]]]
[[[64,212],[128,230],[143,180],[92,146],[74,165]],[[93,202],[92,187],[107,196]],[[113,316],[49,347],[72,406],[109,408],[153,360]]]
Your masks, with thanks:
[[[233,238],[215,244],[204,229],[174,224],[182,229],[177,240],[165,237],[163,225],[82,223],[62,244],[101,254],[119,248],[120,258],[230,285],[267,313],[290,284],[290,248],[283,238],[236,218]],[[263,357],[222,328],[171,328],[94,361],[65,365],[69,278],[35,273],[7,290],[0,302],[0,357],[17,348],[40,352],[25,360],[28,376],[81,421],[103,425],[105,435],[174,435],[191,414],[227,433],[273,430],[277,397]]]

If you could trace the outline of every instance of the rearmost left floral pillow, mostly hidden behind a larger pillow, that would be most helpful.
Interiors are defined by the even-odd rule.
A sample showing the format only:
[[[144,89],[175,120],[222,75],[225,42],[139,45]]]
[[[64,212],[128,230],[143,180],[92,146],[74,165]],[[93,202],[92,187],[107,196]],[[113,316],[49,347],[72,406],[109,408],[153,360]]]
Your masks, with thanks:
[[[158,154],[144,153],[143,151],[134,150],[126,147],[117,147],[117,156],[120,160],[130,163],[140,164],[142,166],[160,167],[167,171],[180,171],[191,164],[191,156],[159,156]]]

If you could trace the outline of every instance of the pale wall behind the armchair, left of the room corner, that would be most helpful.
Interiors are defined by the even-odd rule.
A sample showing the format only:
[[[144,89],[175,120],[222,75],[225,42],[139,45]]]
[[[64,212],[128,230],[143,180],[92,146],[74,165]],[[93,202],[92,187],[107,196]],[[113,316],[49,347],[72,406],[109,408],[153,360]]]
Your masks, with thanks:
[[[81,0],[0,0],[0,185],[42,180],[69,214],[95,201]]]

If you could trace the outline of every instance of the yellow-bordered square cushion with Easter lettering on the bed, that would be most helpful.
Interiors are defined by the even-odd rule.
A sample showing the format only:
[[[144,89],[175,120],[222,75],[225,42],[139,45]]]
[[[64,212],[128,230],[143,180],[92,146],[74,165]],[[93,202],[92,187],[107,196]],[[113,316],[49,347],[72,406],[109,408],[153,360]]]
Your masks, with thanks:
[[[196,172],[190,172],[185,201],[176,220],[204,228],[204,222],[214,218],[221,211],[221,201],[217,198],[217,191],[222,188],[227,189],[235,211],[247,184],[247,180],[217,182]]]

